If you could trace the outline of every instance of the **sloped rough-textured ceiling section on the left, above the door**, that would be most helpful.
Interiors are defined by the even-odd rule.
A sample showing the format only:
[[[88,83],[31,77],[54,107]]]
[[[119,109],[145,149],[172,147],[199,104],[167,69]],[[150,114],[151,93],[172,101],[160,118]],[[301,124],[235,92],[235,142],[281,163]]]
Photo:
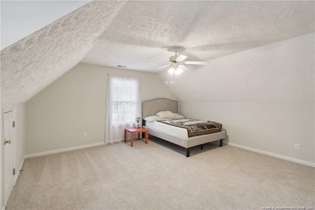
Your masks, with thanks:
[[[1,103],[23,103],[77,65],[125,1],[93,1],[1,50]]]

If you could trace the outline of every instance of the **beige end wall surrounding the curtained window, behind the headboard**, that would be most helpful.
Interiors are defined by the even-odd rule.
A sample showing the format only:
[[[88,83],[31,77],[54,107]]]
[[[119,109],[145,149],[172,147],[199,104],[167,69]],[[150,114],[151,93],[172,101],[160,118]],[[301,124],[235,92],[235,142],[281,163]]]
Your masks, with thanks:
[[[156,73],[80,63],[26,103],[26,154],[103,142],[108,73],[139,76],[141,101],[177,99]]]

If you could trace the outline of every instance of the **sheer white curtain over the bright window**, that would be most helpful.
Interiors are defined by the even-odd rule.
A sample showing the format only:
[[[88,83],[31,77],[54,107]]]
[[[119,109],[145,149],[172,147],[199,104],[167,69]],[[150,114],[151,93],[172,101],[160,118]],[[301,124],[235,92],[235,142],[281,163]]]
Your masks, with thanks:
[[[139,78],[108,75],[105,143],[123,140],[124,128],[132,127],[137,115],[140,115]]]

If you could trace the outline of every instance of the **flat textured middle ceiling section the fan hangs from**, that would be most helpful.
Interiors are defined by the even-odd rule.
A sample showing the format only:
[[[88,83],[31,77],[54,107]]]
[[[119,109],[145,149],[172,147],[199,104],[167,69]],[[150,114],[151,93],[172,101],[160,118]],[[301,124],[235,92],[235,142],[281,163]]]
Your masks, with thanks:
[[[154,70],[185,48],[214,58],[314,32],[314,1],[129,1],[82,62]]]

